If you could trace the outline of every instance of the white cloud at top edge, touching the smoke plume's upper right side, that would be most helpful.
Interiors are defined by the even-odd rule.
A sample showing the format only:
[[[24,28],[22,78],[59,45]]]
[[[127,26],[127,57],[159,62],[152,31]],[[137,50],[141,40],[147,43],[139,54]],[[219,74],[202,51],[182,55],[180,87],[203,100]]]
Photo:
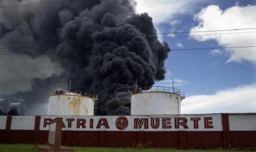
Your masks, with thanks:
[[[162,22],[178,24],[179,21],[175,21],[175,19],[173,19],[174,15],[190,12],[197,2],[199,1],[138,0],[136,10],[137,13],[147,12],[149,16],[152,16],[155,24]]]

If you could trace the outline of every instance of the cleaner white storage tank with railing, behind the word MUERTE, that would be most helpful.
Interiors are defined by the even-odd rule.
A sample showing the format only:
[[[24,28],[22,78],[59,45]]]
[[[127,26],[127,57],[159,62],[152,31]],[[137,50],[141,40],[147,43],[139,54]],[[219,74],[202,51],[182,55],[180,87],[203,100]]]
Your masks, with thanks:
[[[180,114],[180,103],[185,93],[179,89],[152,86],[132,91],[131,115]]]

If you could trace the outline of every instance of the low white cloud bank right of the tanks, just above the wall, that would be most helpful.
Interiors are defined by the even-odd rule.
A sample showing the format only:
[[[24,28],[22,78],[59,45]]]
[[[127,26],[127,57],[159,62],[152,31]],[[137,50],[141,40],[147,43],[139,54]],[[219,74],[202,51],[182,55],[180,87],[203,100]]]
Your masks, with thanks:
[[[182,101],[182,114],[256,112],[256,83],[216,92],[194,95]]]

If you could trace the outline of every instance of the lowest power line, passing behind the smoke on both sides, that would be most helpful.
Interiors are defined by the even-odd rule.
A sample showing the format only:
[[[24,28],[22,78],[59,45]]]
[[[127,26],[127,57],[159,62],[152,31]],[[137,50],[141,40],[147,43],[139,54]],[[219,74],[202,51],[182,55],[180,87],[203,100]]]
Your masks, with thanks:
[[[190,49],[171,49],[171,51],[177,50],[210,50],[210,49],[241,49],[241,48],[249,48],[256,46],[233,46],[233,47],[204,47],[204,48],[190,48]],[[43,53],[43,54],[25,54],[25,53],[13,53],[13,54],[0,54],[0,55],[74,55],[76,53]],[[80,54],[80,53],[79,53]],[[78,55],[78,54],[76,54]]]

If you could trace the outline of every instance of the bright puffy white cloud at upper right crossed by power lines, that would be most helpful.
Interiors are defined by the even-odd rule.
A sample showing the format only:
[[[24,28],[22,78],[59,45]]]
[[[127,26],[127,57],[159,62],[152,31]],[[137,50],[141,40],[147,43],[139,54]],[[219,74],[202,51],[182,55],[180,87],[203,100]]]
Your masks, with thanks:
[[[209,5],[199,12],[195,19],[199,21],[199,25],[193,27],[191,32],[202,30],[223,30],[223,29],[245,29],[254,28],[256,26],[256,5],[247,5],[240,7],[238,5],[221,10],[217,5]],[[240,30],[239,32],[249,32],[252,30]],[[255,31],[255,30],[253,30]],[[214,32],[216,33],[216,32]],[[230,33],[218,32],[218,33]],[[236,32],[237,33],[237,32]],[[201,33],[202,35],[205,33]],[[207,33],[209,34],[209,33]],[[190,35],[198,35],[198,33],[190,33]],[[216,40],[220,46],[256,46],[256,33],[239,33],[224,34],[210,36],[196,36],[198,41]],[[241,62],[243,60],[256,63],[255,47],[244,49],[226,49],[230,54],[227,62]]]

